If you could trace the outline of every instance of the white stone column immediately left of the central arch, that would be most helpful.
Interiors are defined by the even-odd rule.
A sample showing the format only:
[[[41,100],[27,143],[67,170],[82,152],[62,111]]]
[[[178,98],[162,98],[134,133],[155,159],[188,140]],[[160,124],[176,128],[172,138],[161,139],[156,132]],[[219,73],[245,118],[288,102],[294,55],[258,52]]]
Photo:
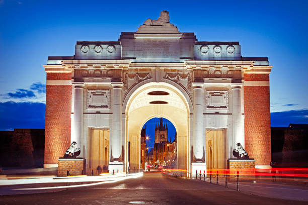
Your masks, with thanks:
[[[109,173],[122,173],[122,86],[123,83],[112,83],[112,126],[111,134],[111,161]]]

